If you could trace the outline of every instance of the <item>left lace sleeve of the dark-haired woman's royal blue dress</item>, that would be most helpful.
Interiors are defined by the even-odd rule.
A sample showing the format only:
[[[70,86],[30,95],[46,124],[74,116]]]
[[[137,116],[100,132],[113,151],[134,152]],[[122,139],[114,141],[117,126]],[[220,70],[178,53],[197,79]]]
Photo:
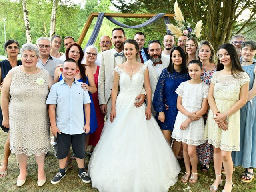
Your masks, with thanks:
[[[164,69],[158,79],[156,90],[153,97],[153,108],[156,112],[165,111],[166,107],[164,105],[165,100],[165,80],[166,74],[168,73],[167,69]]]

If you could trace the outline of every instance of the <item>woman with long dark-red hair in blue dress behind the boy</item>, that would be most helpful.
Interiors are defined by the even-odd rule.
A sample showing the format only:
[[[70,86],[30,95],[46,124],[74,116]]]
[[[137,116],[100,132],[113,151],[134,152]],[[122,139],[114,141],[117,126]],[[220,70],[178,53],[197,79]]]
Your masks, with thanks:
[[[89,57],[96,58],[97,55],[93,55],[93,54],[95,54],[95,53],[90,54]],[[86,53],[86,55],[88,55],[88,54]],[[89,134],[92,134],[98,128],[96,112],[95,112],[94,102],[93,102],[93,98],[92,98],[92,94],[94,94],[97,91],[97,87],[94,82],[94,75],[89,66],[84,66],[81,64],[81,61],[84,58],[84,52],[79,44],[71,43],[68,46],[68,48],[66,50],[66,58],[67,59],[72,58],[77,62],[78,68],[79,68],[79,73],[76,75],[76,79],[80,82],[85,83],[83,88],[84,88],[84,90],[88,90],[88,92],[89,92],[89,96],[92,101],[90,103],[91,115],[90,115],[90,132],[89,132]],[[62,78],[63,77],[62,77],[60,68],[56,68],[55,73],[54,73],[54,82],[56,83],[56,82],[62,80]],[[86,148],[88,146],[89,134],[86,134],[86,136],[85,136],[85,147]],[[74,160],[76,159],[75,154],[73,154],[72,158]],[[71,164],[71,162],[67,163],[67,164]],[[70,166],[67,166],[67,168],[70,168]]]

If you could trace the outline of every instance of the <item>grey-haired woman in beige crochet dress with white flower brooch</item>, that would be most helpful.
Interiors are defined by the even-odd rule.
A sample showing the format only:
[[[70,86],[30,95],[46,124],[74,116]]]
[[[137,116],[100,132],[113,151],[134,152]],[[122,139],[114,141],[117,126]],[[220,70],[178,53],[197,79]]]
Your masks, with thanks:
[[[28,156],[35,155],[38,186],[45,183],[44,158],[50,149],[49,118],[46,98],[52,78],[36,66],[38,48],[24,44],[20,50],[22,66],[10,70],[2,88],[3,126],[10,127],[10,150],[20,166],[17,186],[26,181]],[[9,97],[11,96],[10,102]]]

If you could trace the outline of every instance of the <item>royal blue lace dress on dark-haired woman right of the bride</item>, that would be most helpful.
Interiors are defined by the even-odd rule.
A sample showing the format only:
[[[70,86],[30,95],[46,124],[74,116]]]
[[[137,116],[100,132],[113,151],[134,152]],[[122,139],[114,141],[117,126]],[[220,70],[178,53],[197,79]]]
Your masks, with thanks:
[[[175,119],[178,114],[178,95],[175,93],[175,91],[180,83],[187,80],[190,80],[188,72],[180,74],[179,72],[176,72],[174,70],[174,72],[171,73],[168,72],[167,68],[162,71],[157,82],[156,90],[153,97],[153,107],[154,110],[157,112],[156,120],[161,129],[170,131],[173,130]],[[166,110],[166,106],[164,104],[169,106],[169,110]],[[158,120],[158,115],[161,111],[165,114],[164,123]]]

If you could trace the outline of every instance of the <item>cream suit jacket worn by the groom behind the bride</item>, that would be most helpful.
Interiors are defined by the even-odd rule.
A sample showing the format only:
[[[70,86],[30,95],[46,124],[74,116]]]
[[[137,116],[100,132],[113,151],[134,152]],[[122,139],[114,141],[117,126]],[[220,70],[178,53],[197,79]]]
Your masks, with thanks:
[[[137,58],[138,62],[141,62],[140,57]],[[122,63],[126,62],[126,57],[123,57]],[[98,97],[99,104],[107,104],[112,91],[114,82],[114,68],[118,64],[115,62],[114,48],[102,52],[102,58],[100,61],[100,71],[98,78]]]

